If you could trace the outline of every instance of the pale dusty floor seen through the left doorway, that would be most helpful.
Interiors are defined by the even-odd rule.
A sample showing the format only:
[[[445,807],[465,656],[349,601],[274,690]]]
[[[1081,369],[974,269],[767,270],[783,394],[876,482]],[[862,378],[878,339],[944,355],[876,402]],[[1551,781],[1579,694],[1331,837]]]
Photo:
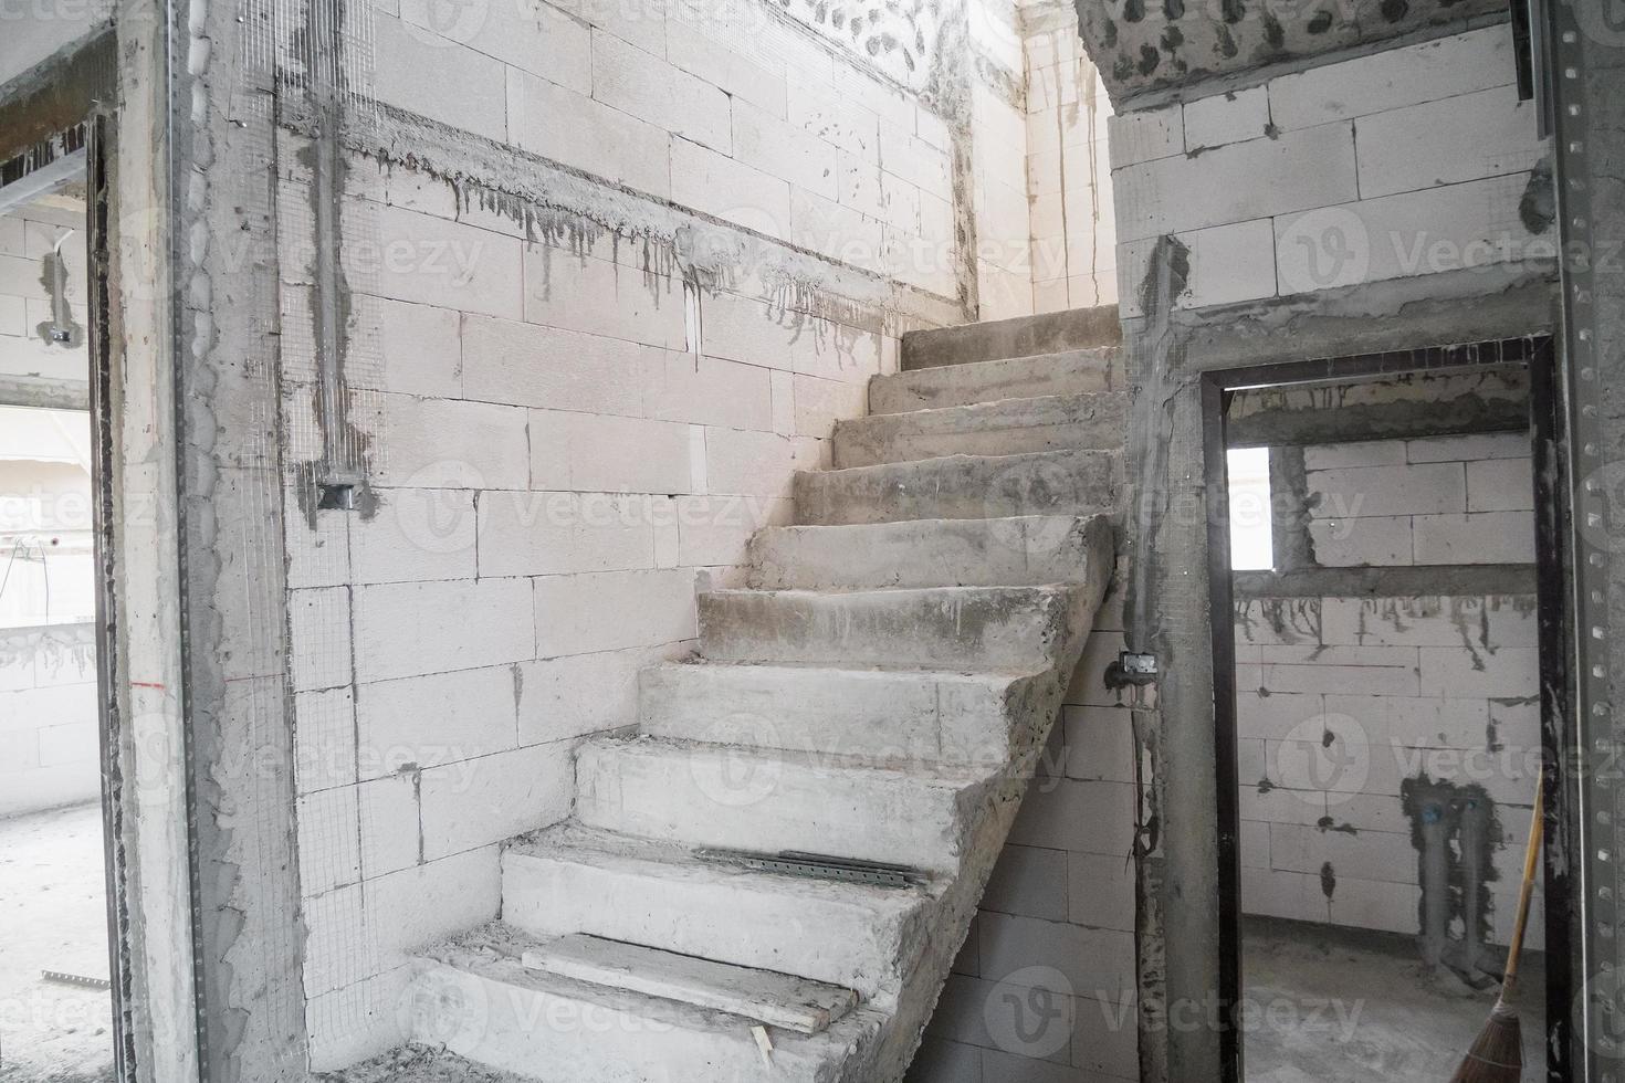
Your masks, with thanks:
[[[112,1080],[109,994],[44,969],[107,977],[99,805],[0,820],[0,1080]]]

